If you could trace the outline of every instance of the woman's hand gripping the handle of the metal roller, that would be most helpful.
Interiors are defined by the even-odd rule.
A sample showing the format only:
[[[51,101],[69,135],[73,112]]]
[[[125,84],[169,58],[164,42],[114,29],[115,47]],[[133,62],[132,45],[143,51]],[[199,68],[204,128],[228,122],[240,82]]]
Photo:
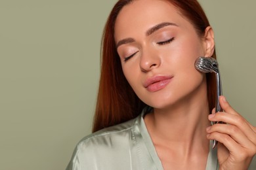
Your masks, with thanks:
[[[207,127],[207,139],[219,141],[217,156],[219,169],[244,170],[256,154],[256,127],[251,126],[228,104],[224,96],[219,98],[225,112],[209,114],[212,122],[225,122]]]

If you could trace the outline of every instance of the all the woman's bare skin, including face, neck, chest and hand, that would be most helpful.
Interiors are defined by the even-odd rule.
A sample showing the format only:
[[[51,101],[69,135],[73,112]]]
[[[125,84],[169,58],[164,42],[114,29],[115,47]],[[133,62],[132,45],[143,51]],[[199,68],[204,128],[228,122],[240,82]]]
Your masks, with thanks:
[[[221,143],[220,169],[247,169],[256,153],[256,128],[222,98],[226,114],[208,116],[205,75],[194,68],[196,58],[213,55],[211,27],[199,37],[171,3],[138,0],[123,7],[114,29],[127,81],[154,108],[144,121],[163,169],[205,169],[210,139]],[[210,120],[228,125],[207,128]]]

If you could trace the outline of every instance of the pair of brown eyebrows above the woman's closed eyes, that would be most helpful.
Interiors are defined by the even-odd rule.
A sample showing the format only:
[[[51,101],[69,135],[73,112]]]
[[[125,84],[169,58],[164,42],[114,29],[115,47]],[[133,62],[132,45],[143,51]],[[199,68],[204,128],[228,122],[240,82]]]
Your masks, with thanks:
[[[162,22],[162,23],[155,25],[154,27],[151,27],[150,29],[148,29],[148,31],[146,31],[146,36],[149,36],[152,33],[158,31],[158,29],[161,29],[162,27],[166,27],[169,25],[178,26],[177,24],[172,23],[172,22]],[[127,43],[131,43],[131,42],[135,42],[135,39],[133,39],[133,38],[122,39],[121,41],[117,42],[116,48],[118,46],[121,46],[122,44],[127,44]]]

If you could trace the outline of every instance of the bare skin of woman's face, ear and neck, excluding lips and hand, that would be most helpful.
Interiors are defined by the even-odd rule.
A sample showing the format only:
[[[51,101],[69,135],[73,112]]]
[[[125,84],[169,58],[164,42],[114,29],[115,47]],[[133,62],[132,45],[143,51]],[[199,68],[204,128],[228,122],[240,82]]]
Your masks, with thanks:
[[[205,169],[209,152],[205,129],[210,125],[206,81],[205,75],[194,68],[194,61],[198,56],[212,55],[213,31],[208,27],[201,39],[192,24],[171,4],[165,1],[147,1],[148,7],[144,4],[144,1],[135,1],[124,7],[117,17],[117,44],[123,39],[134,40],[117,47],[123,72],[135,93],[154,107],[154,112],[146,114],[144,120],[163,168]],[[141,11],[146,10],[150,10],[150,16],[140,17]],[[167,25],[146,35],[150,28],[163,22],[179,26]],[[134,29],[135,25],[140,25],[140,29]],[[175,40],[170,44],[158,45],[171,37]],[[124,61],[134,53],[133,58]],[[165,88],[148,92],[142,84],[158,75],[173,78]],[[141,84],[138,80],[142,80]]]

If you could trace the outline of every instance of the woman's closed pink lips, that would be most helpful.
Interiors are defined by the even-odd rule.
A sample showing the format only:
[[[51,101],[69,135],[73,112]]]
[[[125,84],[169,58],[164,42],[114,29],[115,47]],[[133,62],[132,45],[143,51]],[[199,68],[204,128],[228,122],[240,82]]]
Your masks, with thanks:
[[[146,88],[149,92],[157,92],[161,90],[169,84],[173,76],[152,76],[147,78],[146,81],[143,83],[144,88]]]

